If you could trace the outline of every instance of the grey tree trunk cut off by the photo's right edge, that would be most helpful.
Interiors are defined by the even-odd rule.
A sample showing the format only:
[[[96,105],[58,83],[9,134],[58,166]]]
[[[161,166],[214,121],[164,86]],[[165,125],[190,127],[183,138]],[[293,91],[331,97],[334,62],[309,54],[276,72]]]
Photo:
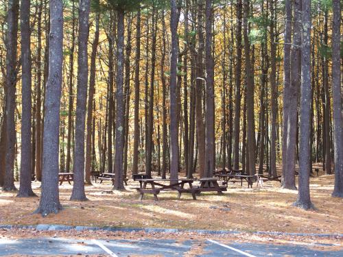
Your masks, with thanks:
[[[334,134],[334,161],[335,187],[333,197],[343,197],[343,129],[342,129],[342,87],[340,71],[340,21],[341,6],[339,0],[333,0],[332,23],[332,90],[333,90],[333,134]]]

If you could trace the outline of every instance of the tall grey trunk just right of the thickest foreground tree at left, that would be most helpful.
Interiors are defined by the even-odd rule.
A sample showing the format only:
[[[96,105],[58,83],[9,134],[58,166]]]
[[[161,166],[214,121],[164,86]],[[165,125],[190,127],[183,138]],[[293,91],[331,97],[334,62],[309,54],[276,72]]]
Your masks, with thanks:
[[[84,193],[84,123],[86,119],[88,80],[88,20],[91,0],[79,2],[78,92],[76,100],[74,183],[71,200],[85,201]]]

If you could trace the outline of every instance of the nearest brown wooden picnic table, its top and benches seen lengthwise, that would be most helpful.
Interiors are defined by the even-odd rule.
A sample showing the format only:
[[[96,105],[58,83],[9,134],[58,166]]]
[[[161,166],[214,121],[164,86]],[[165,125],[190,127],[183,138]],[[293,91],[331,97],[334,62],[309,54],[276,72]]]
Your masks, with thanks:
[[[191,179],[178,179],[178,180],[167,180],[159,178],[141,178],[136,181],[140,182],[140,187],[136,188],[139,192],[139,200],[143,199],[145,193],[153,194],[154,200],[157,201],[157,195],[161,191],[178,191],[178,199],[180,199],[182,193],[190,193],[193,196],[193,200],[196,200],[196,192],[198,189],[193,188],[192,183],[194,180]],[[168,184],[162,184],[168,182]],[[189,185],[189,188],[185,188],[185,184]],[[150,185],[150,188],[147,188]]]

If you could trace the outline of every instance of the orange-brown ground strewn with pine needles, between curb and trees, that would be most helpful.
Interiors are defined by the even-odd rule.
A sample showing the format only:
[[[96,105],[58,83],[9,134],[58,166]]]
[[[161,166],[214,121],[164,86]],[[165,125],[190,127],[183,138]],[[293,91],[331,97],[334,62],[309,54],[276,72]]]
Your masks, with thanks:
[[[159,201],[154,201],[152,195],[144,195],[139,201],[133,189],[138,182],[128,183],[126,191],[113,193],[108,193],[112,189],[109,182],[93,183],[86,186],[89,201],[76,202],[69,200],[72,186],[64,182],[60,186],[64,209],[45,218],[33,214],[39,197],[18,198],[16,193],[0,192],[0,224],[343,233],[343,199],[331,197],[333,175],[311,178],[311,199],[316,210],[293,207],[297,191],[282,189],[279,182],[265,182],[263,188],[256,183],[252,188],[247,188],[246,183],[242,187],[229,183],[224,195],[202,193],[196,201],[189,194],[177,199],[176,192],[160,193]],[[38,196],[39,186],[33,182]]]

